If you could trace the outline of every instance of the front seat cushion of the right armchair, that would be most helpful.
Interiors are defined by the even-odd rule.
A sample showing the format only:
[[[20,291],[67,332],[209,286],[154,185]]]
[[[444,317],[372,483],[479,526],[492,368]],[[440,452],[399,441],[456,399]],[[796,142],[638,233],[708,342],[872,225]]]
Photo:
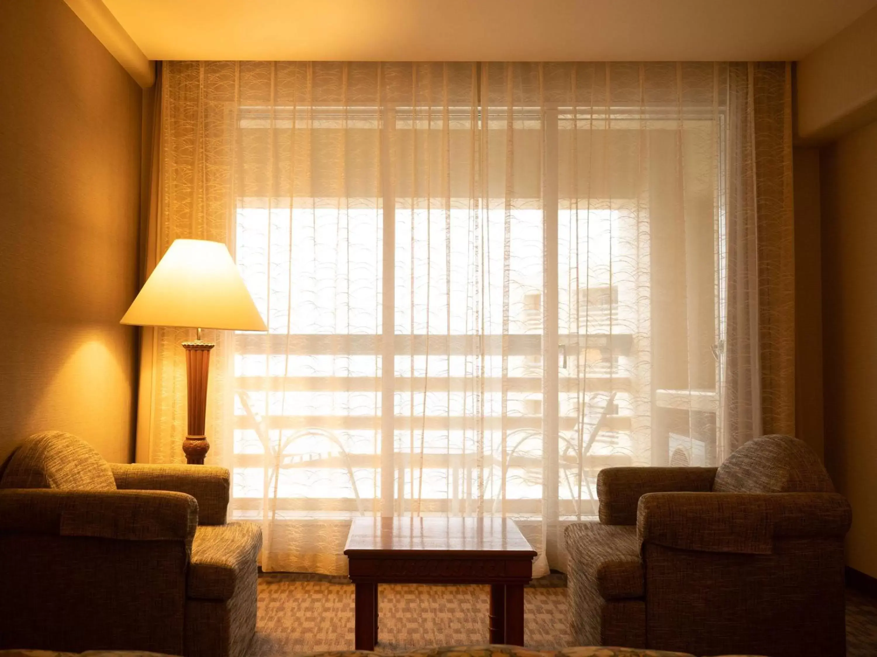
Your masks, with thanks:
[[[565,537],[571,561],[595,583],[603,600],[645,595],[636,527],[579,522],[567,527]]]

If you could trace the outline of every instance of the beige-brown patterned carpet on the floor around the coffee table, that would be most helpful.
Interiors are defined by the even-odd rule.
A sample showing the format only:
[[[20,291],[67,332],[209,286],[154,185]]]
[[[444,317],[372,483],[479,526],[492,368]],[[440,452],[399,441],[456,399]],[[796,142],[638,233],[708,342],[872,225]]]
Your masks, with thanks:
[[[488,642],[488,587],[381,584],[379,653]],[[548,576],[524,592],[524,643],[568,645],[567,589]],[[877,654],[877,600],[847,592],[847,657]],[[346,577],[263,574],[250,657],[353,648],[353,585]]]

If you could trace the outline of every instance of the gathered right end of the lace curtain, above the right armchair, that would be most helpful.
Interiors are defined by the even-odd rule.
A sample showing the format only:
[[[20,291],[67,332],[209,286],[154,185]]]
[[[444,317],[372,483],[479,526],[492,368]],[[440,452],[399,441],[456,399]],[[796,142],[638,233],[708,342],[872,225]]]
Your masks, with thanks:
[[[727,430],[720,458],[795,433],[795,220],[790,64],[731,67],[727,173]]]

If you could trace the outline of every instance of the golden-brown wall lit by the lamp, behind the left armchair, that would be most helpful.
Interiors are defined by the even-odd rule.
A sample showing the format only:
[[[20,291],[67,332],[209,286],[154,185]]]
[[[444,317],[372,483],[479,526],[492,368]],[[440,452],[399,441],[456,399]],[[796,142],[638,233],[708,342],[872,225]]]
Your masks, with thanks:
[[[27,434],[132,454],[141,90],[62,0],[0,21],[0,461]]]

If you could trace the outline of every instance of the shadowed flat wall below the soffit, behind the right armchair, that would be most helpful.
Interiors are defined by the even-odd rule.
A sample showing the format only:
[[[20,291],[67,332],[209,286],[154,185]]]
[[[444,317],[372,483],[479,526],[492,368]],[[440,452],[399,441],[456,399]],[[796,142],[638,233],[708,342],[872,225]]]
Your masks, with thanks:
[[[877,577],[877,123],[822,152],[825,459],[847,562]]]

